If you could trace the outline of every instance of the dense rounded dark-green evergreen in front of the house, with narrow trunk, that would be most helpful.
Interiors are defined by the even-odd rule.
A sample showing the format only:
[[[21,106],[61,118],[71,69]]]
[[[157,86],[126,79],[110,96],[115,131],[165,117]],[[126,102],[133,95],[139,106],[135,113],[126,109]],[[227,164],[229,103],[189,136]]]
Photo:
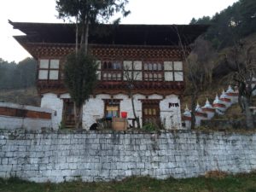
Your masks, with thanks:
[[[82,50],[67,56],[64,67],[64,81],[74,102],[75,127],[82,127],[84,101],[90,98],[96,84],[97,65],[91,55]]]

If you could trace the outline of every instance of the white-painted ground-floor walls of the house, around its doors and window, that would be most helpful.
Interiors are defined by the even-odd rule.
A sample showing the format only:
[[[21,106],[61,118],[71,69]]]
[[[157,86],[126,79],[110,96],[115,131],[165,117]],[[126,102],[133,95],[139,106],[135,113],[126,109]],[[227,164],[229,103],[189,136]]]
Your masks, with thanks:
[[[143,123],[143,105],[141,99],[146,99],[146,96],[136,94],[134,97],[134,106],[137,117],[140,119],[140,124]],[[63,99],[70,98],[69,94],[62,94],[57,96],[53,93],[44,94],[41,100],[42,108],[50,108],[55,111],[55,115],[52,117],[53,129],[57,130],[61,125],[62,111],[63,111]],[[108,94],[100,94],[95,97],[90,97],[85,102],[83,107],[83,129],[89,130],[90,126],[96,123],[96,119],[104,117],[105,104],[103,99],[111,99]],[[131,98],[125,94],[114,95],[113,99],[120,99],[119,109],[120,112],[127,112],[127,118],[134,118],[132,111]],[[178,96],[170,95],[163,98],[163,96],[153,94],[148,96],[150,99],[160,99],[160,119],[166,129],[180,129],[181,126],[181,112],[180,112],[180,101]],[[177,107],[169,107],[169,103],[177,103]],[[129,124],[132,125],[131,120]]]

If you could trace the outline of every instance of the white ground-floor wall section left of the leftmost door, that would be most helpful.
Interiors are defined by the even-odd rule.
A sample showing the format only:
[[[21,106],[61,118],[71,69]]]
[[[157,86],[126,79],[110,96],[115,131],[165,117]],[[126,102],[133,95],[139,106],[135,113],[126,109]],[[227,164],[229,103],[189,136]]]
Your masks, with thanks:
[[[61,125],[63,100],[54,93],[46,93],[42,96],[41,108],[49,108],[55,111],[52,115],[52,128],[57,130]]]

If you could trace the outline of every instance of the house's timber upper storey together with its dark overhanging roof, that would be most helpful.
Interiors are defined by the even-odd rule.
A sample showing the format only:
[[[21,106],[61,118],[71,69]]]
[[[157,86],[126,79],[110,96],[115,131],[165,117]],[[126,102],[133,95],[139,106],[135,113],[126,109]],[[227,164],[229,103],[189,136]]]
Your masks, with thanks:
[[[75,50],[75,25],[9,23],[26,35],[15,39],[38,60],[38,93],[66,93],[65,58]],[[187,45],[207,30],[200,25],[97,25],[90,27],[89,51],[98,64],[96,94],[132,91],[143,95],[182,95]],[[181,46],[183,45],[183,46]]]

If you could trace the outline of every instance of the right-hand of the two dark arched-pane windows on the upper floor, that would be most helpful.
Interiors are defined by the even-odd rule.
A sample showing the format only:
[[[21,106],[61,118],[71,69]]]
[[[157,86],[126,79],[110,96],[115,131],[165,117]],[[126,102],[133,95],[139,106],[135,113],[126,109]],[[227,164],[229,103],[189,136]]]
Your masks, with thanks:
[[[143,78],[145,81],[162,81],[163,64],[161,62],[144,62]]]

